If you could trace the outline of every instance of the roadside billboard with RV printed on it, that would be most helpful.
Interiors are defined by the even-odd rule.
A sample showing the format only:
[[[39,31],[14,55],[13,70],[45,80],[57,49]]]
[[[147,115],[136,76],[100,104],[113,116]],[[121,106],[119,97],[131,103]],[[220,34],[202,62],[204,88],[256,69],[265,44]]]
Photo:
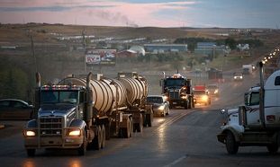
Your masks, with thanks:
[[[116,49],[86,49],[86,65],[108,65],[114,66]]]

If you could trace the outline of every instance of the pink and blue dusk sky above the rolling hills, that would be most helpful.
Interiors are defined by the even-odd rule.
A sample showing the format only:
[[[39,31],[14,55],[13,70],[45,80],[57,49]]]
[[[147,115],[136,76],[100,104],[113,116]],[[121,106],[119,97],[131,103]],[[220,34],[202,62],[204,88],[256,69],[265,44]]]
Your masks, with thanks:
[[[280,27],[280,0],[0,0],[1,23]]]

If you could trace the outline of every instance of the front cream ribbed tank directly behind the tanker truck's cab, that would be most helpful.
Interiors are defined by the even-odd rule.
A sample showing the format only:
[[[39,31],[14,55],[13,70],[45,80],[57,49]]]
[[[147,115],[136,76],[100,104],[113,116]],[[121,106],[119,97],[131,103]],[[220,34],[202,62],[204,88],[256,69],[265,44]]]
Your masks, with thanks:
[[[74,84],[86,87],[86,79],[68,77],[61,80],[59,84]],[[106,112],[116,108],[117,103],[118,107],[125,105],[126,89],[120,81],[116,79],[91,79],[89,85],[95,101],[93,107],[98,111],[99,115],[108,114]]]

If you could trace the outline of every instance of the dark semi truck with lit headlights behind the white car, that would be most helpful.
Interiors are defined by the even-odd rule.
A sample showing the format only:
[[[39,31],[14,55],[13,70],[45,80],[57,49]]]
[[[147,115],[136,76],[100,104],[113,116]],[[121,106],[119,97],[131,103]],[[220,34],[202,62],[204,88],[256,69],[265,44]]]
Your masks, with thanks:
[[[194,108],[194,94],[191,79],[187,79],[183,75],[176,73],[167,78],[164,77],[160,84],[162,94],[169,101],[170,108],[175,108],[176,106],[181,106],[185,109]]]

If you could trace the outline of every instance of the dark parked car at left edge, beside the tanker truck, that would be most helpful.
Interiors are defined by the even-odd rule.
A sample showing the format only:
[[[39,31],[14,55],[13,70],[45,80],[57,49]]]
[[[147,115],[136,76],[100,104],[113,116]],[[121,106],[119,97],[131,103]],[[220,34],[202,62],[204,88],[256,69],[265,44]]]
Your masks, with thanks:
[[[0,100],[0,119],[32,119],[34,107],[17,99]]]

